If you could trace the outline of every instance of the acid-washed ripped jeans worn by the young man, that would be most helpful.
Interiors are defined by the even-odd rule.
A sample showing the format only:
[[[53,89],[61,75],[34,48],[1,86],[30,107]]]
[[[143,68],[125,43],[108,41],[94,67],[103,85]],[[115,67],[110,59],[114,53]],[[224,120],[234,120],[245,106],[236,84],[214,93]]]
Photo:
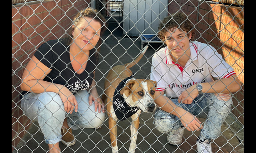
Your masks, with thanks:
[[[195,117],[206,118],[199,135],[199,139],[202,141],[205,139],[211,141],[220,135],[221,125],[230,113],[233,104],[230,94],[219,94],[219,96],[213,93],[199,94],[191,104],[179,103],[178,98],[171,100]],[[159,108],[157,108],[154,117],[153,124],[161,133],[169,133],[171,130],[177,130],[182,126],[179,117]]]

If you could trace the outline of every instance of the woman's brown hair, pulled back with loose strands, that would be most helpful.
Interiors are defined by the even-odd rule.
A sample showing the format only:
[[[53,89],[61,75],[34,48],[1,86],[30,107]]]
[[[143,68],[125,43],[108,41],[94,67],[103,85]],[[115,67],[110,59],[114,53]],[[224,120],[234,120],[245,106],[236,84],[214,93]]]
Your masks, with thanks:
[[[104,31],[106,31],[108,23],[106,22],[106,19],[103,17],[103,15],[101,15],[97,10],[95,9],[91,9],[91,8],[86,8],[85,10],[81,10],[80,12],[78,12],[72,22],[73,26],[69,32],[68,32],[68,36],[66,37],[66,39],[64,40],[66,45],[70,45],[73,42],[73,35],[72,32],[74,30],[74,28],[80,23],[80,20],[82,18],[90,18],[93,19],[97,22],[100,23],[101,25],[101,29],[100,29],[100,36],[103,35]],[[98,46],[101,46],[101,38],[99,39],[99,44]],[[99,53],[100,47],[98,47],[97,52]],[[98,56],[98,53],[96,53],[96,56]]]

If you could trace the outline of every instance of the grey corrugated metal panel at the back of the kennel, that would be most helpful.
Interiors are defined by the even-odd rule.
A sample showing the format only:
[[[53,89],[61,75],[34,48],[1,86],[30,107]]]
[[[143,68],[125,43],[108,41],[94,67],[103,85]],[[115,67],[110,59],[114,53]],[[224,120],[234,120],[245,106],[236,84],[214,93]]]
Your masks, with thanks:
[[[124,0],[123,35],[156,34],[167,6],[168,0]]]

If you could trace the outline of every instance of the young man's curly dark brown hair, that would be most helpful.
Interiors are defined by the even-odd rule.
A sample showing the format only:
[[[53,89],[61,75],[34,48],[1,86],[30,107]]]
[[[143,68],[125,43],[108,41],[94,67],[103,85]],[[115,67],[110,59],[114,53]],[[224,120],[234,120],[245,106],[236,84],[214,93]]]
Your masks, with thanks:
[[[180,31],[187,32],[188,35],[191,33],[191,41],[194,38],[194,26],[192,22],[188,19],[187,15],[184,13],[174,13],[167,16],[158,26],[158,37],[165,42],[165,34],[168,30],[173,32],[176,28]]]

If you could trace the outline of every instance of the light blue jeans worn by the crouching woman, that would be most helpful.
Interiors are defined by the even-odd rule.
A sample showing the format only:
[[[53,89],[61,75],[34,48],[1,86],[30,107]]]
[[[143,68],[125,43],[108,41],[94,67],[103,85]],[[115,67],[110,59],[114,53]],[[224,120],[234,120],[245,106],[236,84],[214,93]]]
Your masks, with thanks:
[[[76,98],[78,109],[72,114],[64,111],[61,97],[54,92],[40,94],[29,93],[21,100],[21,108],[24,114],[31,120],[38,121],[47,144],[55,144],[61,141],[61,128],[64,118],[72,130],[79,128],[97,128],[103,124],[105,113],[95,112],[92,101],[89,106],[89,93],[86,90],[78,91]]]

